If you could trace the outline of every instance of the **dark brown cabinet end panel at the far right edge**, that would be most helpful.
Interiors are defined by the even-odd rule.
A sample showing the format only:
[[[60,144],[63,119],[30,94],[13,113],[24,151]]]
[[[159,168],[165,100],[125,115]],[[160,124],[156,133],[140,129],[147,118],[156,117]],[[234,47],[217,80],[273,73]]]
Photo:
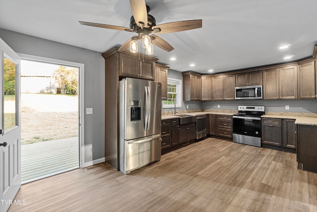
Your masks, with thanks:
[[[298,167],[317,172],[317,126],[298,125]]]

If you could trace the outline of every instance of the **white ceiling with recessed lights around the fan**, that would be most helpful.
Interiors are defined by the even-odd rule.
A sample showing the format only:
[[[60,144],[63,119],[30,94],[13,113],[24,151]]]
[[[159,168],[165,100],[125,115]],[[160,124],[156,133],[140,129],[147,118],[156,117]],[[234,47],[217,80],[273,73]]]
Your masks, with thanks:
[[[175,49],[154,57],[176,71],[213,73],[296,61],[317,44],[317,0],[146,0],[157,24],[203,19],[203,28],[159,34]],[[0,28],[98,52],[133,32],[80,25],[129,27],[128,0],[0,0]],[[288,49],[279,46],[290,44]],[[285,56],[293,56],[289,60]],[[176,57],[176,61],[170,61]],[[190,67],[191,63],[196,64]]]

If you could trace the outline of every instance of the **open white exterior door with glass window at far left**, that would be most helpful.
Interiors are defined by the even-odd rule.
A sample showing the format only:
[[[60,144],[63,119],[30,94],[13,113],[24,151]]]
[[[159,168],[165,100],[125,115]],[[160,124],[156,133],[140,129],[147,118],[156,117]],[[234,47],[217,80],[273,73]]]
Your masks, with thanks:
[[[0,39],[0,212],[21,186],[20,57]]]

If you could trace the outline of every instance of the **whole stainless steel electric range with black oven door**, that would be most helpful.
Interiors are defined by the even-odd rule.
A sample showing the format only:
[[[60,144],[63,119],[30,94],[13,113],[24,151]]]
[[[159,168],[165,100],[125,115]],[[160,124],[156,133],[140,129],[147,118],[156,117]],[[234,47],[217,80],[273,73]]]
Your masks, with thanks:
[[[261,116],[264,106],[238,106],[233,115],[233,142],[261,147]]]

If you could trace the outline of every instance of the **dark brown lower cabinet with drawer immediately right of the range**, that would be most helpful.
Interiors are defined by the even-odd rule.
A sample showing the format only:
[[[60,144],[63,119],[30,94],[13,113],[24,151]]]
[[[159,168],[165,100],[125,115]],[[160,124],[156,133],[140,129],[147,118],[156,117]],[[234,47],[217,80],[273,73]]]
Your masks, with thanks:
[[[263,118],[262,143],[282,146],[282,120]]]

